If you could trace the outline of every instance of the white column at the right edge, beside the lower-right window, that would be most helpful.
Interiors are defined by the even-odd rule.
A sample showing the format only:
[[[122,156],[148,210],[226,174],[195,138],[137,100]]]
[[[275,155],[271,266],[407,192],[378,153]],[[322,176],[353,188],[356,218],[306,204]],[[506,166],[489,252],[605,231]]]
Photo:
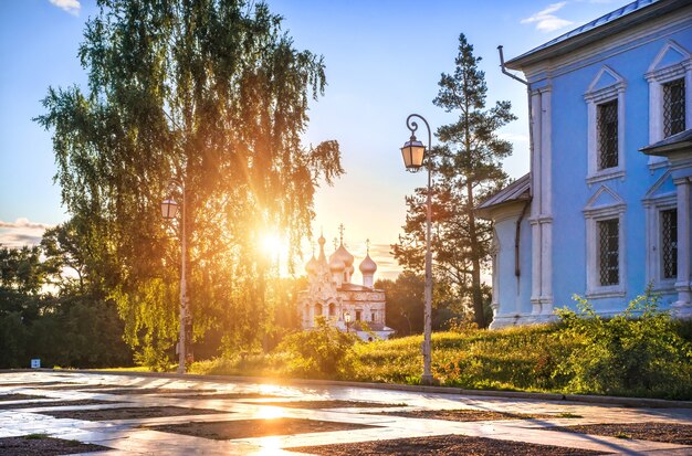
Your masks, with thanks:
[[[675,307],[683,311],[690,311],[690,178],[677,179],[678,188],[678,301]]]

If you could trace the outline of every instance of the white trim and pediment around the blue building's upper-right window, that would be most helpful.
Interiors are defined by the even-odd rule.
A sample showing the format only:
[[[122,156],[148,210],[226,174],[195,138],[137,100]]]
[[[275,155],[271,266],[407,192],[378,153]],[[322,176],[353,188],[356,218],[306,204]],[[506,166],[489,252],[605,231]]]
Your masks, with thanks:
[[[657,68],[671,50],[684,59],[672,65]],[[663,137],[663,85],[684,77],[685,85],[685,128],[692,128],[692,55],[680,44],[669,40],[649,66],[644,78],[649,83],[649,144],[658,142]],[[649,156],[649,168],[657,169],[668,165],[665,157]]]

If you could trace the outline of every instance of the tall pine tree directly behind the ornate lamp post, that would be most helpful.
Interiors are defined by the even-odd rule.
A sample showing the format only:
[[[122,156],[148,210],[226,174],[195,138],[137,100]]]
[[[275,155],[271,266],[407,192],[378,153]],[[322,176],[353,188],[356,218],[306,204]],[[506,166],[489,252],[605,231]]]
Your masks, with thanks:
[[[434,172],[432,252],[436,295],[454,301],[458,310],[473,314],[484,328],[490,321],[484,311],[481,272],[487,267],[492,225],[475,216],[475,205],[506,183],[501,160],[512,153],[512,145],[497,130],[515,119],[510,102],[486,108],[485,74],[478,68],[480,56],[465,36],[459,36],[454,72],[443,73],[433,103],[458,115],[441,126],[441,142],[431,151]],[[405,267],[420,271],[424,256],[424,198],[417,189],[407,198],[405,235],[392,245],[395,257]]]

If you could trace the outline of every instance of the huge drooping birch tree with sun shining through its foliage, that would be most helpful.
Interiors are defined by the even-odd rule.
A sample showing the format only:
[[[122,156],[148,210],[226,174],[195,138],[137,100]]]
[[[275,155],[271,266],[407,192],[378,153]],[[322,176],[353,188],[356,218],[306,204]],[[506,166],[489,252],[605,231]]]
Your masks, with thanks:
[[[323,59],[294,49],[263,2],[98,6],[80,47],[88,87],[51,87],[38,118],[54,131],[56,181],[88,267],[117,300],[128,342],[160,358],[177,339],[184,223],[196,337],[222,327],[256,343],[269,331],[263,233],[281,231],[295,254],[315,187],[343,172],[336,141],[301,145]],[[185,206],[168,229],[167,197]]]

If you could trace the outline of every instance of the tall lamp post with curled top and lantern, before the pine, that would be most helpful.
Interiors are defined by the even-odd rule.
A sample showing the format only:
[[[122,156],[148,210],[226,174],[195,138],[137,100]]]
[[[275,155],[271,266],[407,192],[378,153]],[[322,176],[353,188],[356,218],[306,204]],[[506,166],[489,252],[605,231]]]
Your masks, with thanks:
[[[423,161],[426,158],[426,146],[418,139],[416,139],[416,130],[418,129],[418,124],[412,121],[412,118],[419,118],[426,124],[428,128],[428,151],[431,149],[432,144],[432,134],[430,131],[430,125],[428,125],[428,120],[426,120],[419,114],[411,114],[406,118],[406,126],[411,131],[411,138],[403,144],[401,148],[401,157],[403,158],[403,165],[406,166],[406,170],[410,172],[416,172],[423,167]],[[428,161],[426,163],[428,168],[428,195],[426,199],[426,307],[424,307],[424,319],[423,319],[423,375],[421,377],[422,384],[432,384],[432,372],[431,372],[431,361],[432,361],[432,253],[430,251],[430,238],[431,238],[431,225],[432,225],[432,161],[430,157],[428,157]]]

